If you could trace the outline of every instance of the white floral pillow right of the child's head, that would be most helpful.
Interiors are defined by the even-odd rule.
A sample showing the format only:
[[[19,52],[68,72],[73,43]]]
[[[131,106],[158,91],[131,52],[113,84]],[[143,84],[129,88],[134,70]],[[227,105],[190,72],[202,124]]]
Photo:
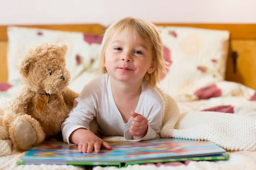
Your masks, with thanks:
[[[203,28],[157,26],[169,62],[158,86],[178,101],[199,88],[224,80],[229,32]]]

